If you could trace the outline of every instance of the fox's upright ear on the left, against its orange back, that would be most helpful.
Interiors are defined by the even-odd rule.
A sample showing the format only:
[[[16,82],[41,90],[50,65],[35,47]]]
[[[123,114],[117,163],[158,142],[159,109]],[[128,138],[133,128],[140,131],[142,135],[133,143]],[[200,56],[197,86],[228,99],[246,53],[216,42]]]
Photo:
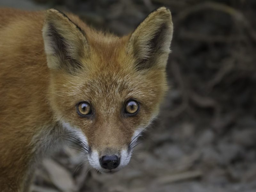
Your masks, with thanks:
[[[85,32],[56,9],[46,11],[43,39],[47,65],[51,69],[75,72],[82,67],[79,60],[84,53],[89,54]]]

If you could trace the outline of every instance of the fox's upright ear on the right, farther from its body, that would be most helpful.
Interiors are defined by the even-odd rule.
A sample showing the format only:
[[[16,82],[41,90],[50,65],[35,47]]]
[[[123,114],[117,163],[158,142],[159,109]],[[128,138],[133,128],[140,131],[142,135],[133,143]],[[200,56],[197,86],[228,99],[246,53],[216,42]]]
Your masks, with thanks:
[[[128,52],[136,59],[138,69],[152,66],[165,68],[172,41],[173,25],[169,9],[151,12],[130,36]]]

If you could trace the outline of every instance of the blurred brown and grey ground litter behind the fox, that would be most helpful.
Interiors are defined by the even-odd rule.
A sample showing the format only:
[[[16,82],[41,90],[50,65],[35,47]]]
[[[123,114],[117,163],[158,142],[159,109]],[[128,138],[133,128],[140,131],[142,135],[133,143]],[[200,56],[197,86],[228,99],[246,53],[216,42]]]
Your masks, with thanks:
[[[34,192],[255,192],[255,0],[0,0],[25,10],[74,12],[97,29],[128,34],[170,8],[171,89],[130,164],[99,174],[63,147],[36,170]]]

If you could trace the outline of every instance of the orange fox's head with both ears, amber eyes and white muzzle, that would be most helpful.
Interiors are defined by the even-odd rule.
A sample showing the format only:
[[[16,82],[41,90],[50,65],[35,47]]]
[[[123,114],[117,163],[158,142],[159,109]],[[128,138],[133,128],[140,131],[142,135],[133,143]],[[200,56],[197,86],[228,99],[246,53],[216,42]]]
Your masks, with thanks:
[[[124,37],[95,31],[55,9],[46,12],[50,105],[100,172],[128,164],[140,133],[157,116],[172,31],[165,7]]]

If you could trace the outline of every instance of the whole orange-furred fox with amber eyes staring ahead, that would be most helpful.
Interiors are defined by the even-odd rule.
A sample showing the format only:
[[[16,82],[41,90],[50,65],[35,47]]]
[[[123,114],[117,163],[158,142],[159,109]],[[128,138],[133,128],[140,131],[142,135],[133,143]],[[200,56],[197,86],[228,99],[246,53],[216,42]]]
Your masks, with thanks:
[[[168,89],[172,34],[166,7],[121,37],[56,9],[1,8],[1,191],[27,192],[60,140],[99,172],[125,167]]]

